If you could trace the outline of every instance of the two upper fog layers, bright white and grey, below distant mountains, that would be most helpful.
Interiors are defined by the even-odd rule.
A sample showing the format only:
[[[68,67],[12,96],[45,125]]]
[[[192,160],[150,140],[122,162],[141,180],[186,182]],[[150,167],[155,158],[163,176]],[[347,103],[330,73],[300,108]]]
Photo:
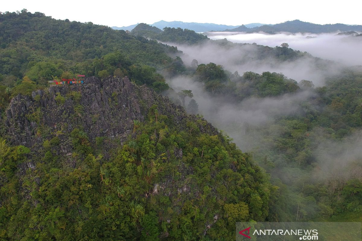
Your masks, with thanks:
[[[298,82],[302,79],[310,80],[315,86],[324,85],[325,78],[337,74],[341,68],[362,65],[362,36],[336,35],[336,33],[317,35],[237,32],[210,32],[208,36],[211,39],[226,38],[232,43],[207,41],[191,46],[167,44],[177,46],[178,50],[184,52],[181,58],[186,66],[190,66],[191,61],[196,59],[199,64],[210,62],[220,64],[232,73],[236,70],[239,74],[247,71],[277,72]],[[283,59],[277,58],[275,53],[262,47],[263,45],[275,47],[282,43],[288,43],[293,50],[309,54],[299,55],[294,59]]]

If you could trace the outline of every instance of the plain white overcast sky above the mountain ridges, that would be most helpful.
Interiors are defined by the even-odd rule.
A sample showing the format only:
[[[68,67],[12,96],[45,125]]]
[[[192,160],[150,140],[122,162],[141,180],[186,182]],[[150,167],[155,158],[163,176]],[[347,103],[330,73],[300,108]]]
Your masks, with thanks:
[[[326,24],[362,25],[362,1],[2,1],[0,12],[15,12],[23,8],[42,12],[55,19],[93,22],[108,26],[128,26],[145,22],[165,21],[211,22],[226,25],[247,23],[280,23],[299,19]]]

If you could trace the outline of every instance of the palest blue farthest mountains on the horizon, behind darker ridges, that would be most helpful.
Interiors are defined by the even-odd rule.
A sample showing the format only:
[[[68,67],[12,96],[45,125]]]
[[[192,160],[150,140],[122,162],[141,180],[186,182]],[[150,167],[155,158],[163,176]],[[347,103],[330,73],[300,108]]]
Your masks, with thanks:
[[[137,25],[138,25],[138,23],[134,24],[134,25],[130,25],[130,26],[123,26],[123,27],[114,26],[112,28],[117,29],[117,30],[131,31]],[[163,29],[164,27],[174,27],[174,28],[180,27],[181,29],[189,29],[189,30],[193,30],[197,33],[207,32],[207,31],[223,31],[225,29],[234,29],[236,27],[239,27],[239,26],[223,25],[223,24],[215,24],[215,23],[196,23],[196,22],[181,22],[181,21],[167,22],[167,21],[163,21],[163,20],[152,23],[150,25],[158,27],[159,29]],[[262,26],[262,25],[264,25],[264,24],[249,23],[249,24],[246,24],[243,26],[251,28],[251,27],[257,27],[257,26]]]

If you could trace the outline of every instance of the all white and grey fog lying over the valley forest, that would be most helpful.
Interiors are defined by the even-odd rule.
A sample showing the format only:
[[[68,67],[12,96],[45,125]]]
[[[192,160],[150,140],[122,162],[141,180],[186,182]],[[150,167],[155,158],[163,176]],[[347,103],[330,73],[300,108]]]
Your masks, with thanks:
[[[264,71],[277,72],[283,73],[288,78],[295,79],[298,82],[302,79],[311,80],[316,86],[324,85],[324,80],[327,76],[340,73],[340,70],[345,66],[362,65],[362,37],[358,36],[341,36],[336,34],[268,35],[220,32],[209,33],[208,36],[211,39],[227,38],[236,43],[255,42],[270,47],[279,46],[281,43],[288,43],[290,48],[302,52],[307,51],[314,57],[305,55],[287,61],[281,61],[273,56],[260,58],[260,50],[262,49],[252,44],[220,45],[214,41],[197,46],[171,44],[184,52],[181,58],[186,66],[190,66],[191,61],[196,59],[198,64],[213,62],[223,65],[224,69],[232,73],[237,70],[240,75],[247,71],[260,74]],[[316,38],[306,38],[307,36],[315,36]],[[318,60],[315,57],[338,61],[338,63]],[[269,135],[267,131],[261,134],[261,132],[251,132],[250,130],[264,128],[270,133],[274,132],[274,135],[278,135],[278,130],[273,130],[273,126],[278,118],[281,116],[303,115],[304,113],[298,113],[300,112],[299,104],[313,96],[312,92],[304,91],[296,95],[286,94],[273,98],[252,97],[246,98],[240,103],[230,103],[225,102],[225,99],[212,98],[204,91],[203,84],[194,81],[192,77],[178,76],[168,79],[167,82],[176,93],[184,89],[192,90],[193,98],[198,103],[198,112],[218,129],[230,135],[240,149],[247,152],[264,148],[262,147],[262,139],[268,138]],[[178,98],[177,96],[172,96],[172,92],[165,94],[170,95],[172,98]],[[188,103],[189,100],[186,102]],[[328,162],[330,157],[326,153],[329,153],[329,150],[331,150],[331,148],[327,148],[331,146],[331,143],[339,145],[338,151],[344,154],[344,158],[347,158],[344,162]],[[316,141],[319,149],[314,155],[320,164],[320,168],[324,168],[323,172],[327,173],[326,169],[328,169],[329,172],[335,173],[334,170],[342,168],[344,163],[352,162],[356,157],[362,156],[362,152],[359,149],[360,146],[352,147],[344,144],[344,142],[333,140]],[[348,156],[345,155],[346,153]]]

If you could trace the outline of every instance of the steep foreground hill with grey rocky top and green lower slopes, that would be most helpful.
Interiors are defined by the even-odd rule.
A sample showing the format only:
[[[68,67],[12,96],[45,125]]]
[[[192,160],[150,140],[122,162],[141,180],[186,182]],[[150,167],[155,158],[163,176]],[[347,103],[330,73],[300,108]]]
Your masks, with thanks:
[[[19,94],[3,121],[0,240],[233,240],[277,191],[210,123],[127,77]]]

